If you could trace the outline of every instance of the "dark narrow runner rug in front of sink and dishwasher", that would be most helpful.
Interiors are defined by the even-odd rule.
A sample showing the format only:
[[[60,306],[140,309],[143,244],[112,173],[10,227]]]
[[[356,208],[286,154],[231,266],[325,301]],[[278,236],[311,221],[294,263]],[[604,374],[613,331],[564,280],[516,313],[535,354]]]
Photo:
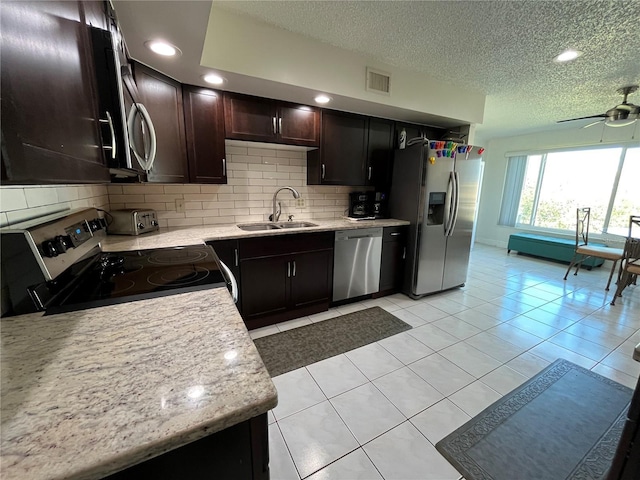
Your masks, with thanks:
[[[373,307],[257,338],[254,343],[269,374],[276,377],[409,329],[411,325]]]

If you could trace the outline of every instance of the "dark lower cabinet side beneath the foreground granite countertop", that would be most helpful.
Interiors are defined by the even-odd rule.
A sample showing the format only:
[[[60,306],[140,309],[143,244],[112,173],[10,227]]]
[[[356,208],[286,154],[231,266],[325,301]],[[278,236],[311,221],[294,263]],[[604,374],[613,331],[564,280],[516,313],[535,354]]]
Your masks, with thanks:
[[[267,414],[208,435],[108,480],[269,480]]]

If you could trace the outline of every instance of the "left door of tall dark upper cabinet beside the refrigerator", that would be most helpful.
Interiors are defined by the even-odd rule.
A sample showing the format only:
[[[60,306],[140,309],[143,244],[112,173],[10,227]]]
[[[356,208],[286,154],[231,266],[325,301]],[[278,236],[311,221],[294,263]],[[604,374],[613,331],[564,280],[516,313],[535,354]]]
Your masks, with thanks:
[[[309,185],[367,185],[368,118],[322,111],[320,148],[307,152]]]

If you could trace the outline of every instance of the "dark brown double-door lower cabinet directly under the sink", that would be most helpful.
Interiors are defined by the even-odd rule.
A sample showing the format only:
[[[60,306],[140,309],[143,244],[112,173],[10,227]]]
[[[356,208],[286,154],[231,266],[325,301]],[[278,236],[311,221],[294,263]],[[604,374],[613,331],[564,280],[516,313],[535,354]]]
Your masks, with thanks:
[[[329,308],[333,232],[240,241],[242,318],[247,328]]]

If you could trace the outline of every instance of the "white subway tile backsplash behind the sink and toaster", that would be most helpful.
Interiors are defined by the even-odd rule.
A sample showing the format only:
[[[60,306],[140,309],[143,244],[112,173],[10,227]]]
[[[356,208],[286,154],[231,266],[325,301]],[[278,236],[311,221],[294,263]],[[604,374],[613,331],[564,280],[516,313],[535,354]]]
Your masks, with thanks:
[[[296,219],[339,218],[347,208],[349,192],[363,189],[308,186],[304,150],[262,145],[227,144],[226,185],[110,185],[106,188],[109,200],[112,206],[154,208],[161,226],[186,226],[265,221],[272,213],[273,194],[284,186],[295,187],[306,200],[304,207],[297,207],[295,199],[282,192],[278,201],[284,218],[292,214]],[[132,199],[140,196],[143,203]],[[176,212],[176,199],[185,202],[184,213]]]

